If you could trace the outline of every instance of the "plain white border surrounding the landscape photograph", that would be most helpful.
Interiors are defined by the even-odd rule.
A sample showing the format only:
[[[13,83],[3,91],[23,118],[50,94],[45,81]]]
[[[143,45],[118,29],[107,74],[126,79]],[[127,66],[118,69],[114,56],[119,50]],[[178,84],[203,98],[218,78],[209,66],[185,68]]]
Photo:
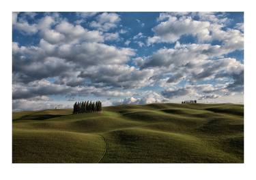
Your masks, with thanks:
[[[255,5],[253,1],[2,1],[1,179],[255,179]],[[12,12],[244,12],[244,164],[12,164]]]

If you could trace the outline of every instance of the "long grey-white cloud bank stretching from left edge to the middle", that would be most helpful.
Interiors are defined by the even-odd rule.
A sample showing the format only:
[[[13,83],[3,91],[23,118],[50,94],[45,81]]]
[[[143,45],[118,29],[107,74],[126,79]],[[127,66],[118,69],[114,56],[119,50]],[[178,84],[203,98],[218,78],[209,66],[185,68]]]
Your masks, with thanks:
[[[70,79],[68,77],[71,74],[79,75],[76,72],[85,71],[85,69],[89,71],[96,65],[124,65],[133,55],[134,51],[130,48],[115,48],[103,43],[88,42],[74,46],[68,44],[54,46],[44,39],[41,39],[39,47],[24,47],[13,43],[14,82],[31,82],[55,76]],[[130,72],[129,68],[122,70],[127,72],[118,72]],[[72,77],[70,82],[72,79],[76,77]],[[65,81],[60,80],[60,82]],[[82,84],[83,80],[78,78],[74,83],[79,82]]]

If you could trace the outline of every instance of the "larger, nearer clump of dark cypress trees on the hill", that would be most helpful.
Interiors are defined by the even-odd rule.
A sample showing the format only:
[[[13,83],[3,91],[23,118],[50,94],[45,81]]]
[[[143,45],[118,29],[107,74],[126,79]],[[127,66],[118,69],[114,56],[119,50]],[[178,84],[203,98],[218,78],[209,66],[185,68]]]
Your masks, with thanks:
[[[74,103],[73,114],[92,113],[96,111],[102,111],[102,104],[100,101],[81,101]]]

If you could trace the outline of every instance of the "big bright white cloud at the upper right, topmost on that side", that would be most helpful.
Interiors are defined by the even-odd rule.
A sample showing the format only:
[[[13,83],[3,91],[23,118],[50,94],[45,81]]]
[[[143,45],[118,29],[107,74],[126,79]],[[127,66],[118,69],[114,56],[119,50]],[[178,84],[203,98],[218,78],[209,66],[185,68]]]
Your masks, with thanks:
[[[175,16],[176,15],[176,16]],[[195,16],[199,20],[195,20]],[[227,18],[223,14],[216,15],[212,12],[199,13],[167,13],[160,14],[155,26],[153,37],[147,38],[147,45],[153,43],[174,43],[183,35],[193,35],[199,42],[221,41],[223,46],[229,50],[242,50],[244,48],[244,35],[237,29],[226,29]],[[242,27],[240,27],[242,29]]]

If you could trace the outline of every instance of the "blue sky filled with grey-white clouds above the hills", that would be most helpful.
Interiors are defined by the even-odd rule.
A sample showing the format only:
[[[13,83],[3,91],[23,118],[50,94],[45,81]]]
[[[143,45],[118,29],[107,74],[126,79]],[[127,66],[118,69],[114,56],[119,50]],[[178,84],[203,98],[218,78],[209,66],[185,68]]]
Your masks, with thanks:
[[[244,102],[243,12],[13,12],[13,111]]]

